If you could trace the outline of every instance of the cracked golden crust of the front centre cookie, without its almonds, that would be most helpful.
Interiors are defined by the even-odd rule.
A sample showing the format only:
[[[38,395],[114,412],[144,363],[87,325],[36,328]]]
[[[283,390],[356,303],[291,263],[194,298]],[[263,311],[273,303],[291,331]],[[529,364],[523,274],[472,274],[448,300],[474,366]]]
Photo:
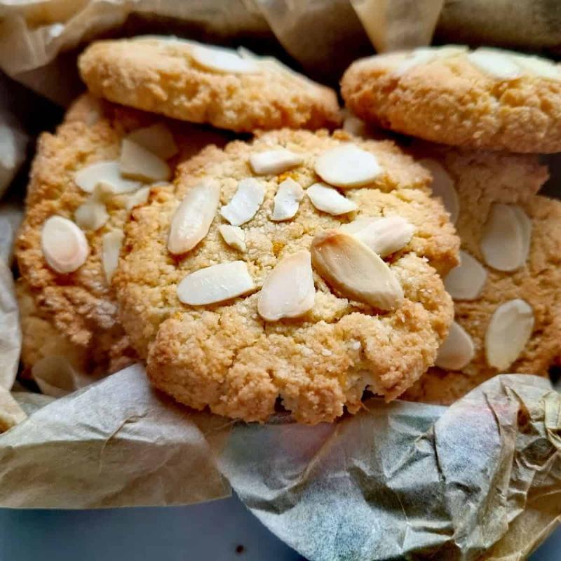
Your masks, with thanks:
[[[338,297],[314,273],[316,304],[301,318],[265,322],[257,314],[258,292],[222,304],[191,307],[177,298],[184,276],[205,266],[243,259],[260,287],[279,259],[309,249],[318,231],[337,228],[355,216],[319,212],[304,196],[297,215],[271,222],[278,184],[291,177],[302,187],[318,180],[316,157],[353,140],[371,151],[384,174],[367,187],[346,189],[358,203],[358,215],[402,215],[416,227],[412,241],[390,259],[405,292],[395,312],[380,313]],[[250,177],[248,157],[286,147],[304,156],[304,164],[266,181],[264,203],[243,225],[247,252],[226,245],[215,218],[199,245],[181,256],[167,250],[170,221],[178,204],[203,177],[221,185],[227,203],[238,180]],[[114,277],[121,320],[141,356],[147,356],[151,381],[196,409],[246,421],[264,421],[277,398],[306,423],[330,421],[360,407],[366,385],[392,399],[433,363],[447,333],[452,302],[442,273],[457,263],[459,241],[438,201],[428,196],[426,170],[392,142],[360,141],[338,131],[316,134],[288,129],[266,133],[255,142],[231,142],[222,151],[208,148],[180,166],[175,189],[154,189],[151,201],[133,212]],[[429,264],[429,262],[431,264]]]

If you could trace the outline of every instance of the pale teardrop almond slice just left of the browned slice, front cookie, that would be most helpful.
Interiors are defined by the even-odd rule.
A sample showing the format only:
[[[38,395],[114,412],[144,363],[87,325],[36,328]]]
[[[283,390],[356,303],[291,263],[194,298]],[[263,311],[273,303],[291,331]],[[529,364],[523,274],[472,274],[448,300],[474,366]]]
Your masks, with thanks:
[[[298,318],[313,308],[311,255],[301,250],[281,259],[263,283],[257,300],[259,316],[267,321]]]

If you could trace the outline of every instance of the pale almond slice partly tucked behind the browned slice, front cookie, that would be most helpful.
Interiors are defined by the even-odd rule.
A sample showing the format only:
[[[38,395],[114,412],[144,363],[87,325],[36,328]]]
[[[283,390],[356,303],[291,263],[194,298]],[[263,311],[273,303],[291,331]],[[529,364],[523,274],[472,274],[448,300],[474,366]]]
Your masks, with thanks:
[[[401,216],[364,217],[342,224],[342,231],[352,234],[380,257],[405,248],[415,227]]]

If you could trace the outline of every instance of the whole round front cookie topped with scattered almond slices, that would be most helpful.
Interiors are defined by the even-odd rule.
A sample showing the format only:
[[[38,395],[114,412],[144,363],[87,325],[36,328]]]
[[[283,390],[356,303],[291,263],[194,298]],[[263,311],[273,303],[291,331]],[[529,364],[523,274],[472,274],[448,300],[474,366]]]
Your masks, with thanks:
[[[396,398],[433,364],[452,320],[435,269],[457,264],[459,241],[429,179],[393,142],[342,131],[274,131],[182,164],[173,188],[133,212],[114,278],[151,381],[245,421],[266,420],[278,398],[309,424],[356,412],[366,386]],[[182,217],[195,215],[185,231],[197,235],[182,244]],[[392,224],[377,238],[384,261],[349,233],[365,217]],[[238,237],[223,237],[232,226]],[[348,266],[336,270],[340,248]],[[388,304],[396,283],[403,299]]]

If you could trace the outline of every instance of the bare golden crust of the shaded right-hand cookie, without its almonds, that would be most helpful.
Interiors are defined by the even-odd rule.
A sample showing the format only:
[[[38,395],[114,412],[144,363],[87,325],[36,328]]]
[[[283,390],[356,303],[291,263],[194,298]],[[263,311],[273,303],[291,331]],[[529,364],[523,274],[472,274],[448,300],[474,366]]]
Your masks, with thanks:
[[[461,248],[485,266],[488,276],[478,299],[454,302],[456,320],[475,345],[471,363],[461,372],[431,368],[403,398],[448,405],[499,374],[487,364],[485,332],[497,306],[511,299],[532,306],[535,323],[532,337],[508,372],[546,376],[548,367],[561,358],[561,203],[536,196],[548,177],[547,168],[539,165],[537,156],[428,147],[420,154],[437,158],[454,177]],[[527,262],[510,273],[486,266],[480,250],[482,227],[494,202],[519,205],[532,219]]]

